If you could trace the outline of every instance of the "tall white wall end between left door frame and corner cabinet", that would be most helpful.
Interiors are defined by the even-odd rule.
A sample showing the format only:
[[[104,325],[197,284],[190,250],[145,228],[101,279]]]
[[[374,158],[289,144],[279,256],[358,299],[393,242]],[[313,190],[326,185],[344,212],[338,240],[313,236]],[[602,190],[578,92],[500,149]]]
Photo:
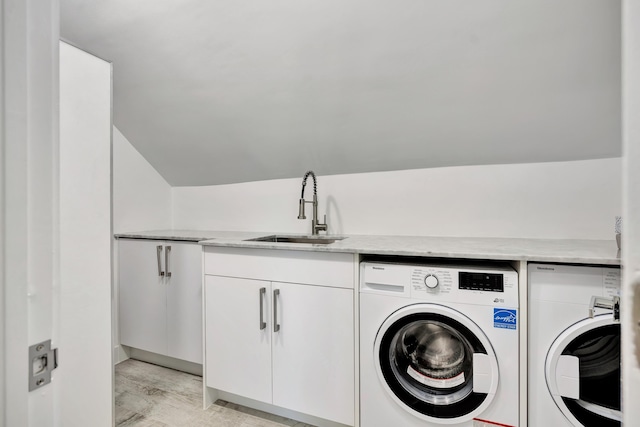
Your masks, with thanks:
[[[113,420],[111,127],[111,64],[61,43],[60,366],[54,378],[61,426],[106,427]]]

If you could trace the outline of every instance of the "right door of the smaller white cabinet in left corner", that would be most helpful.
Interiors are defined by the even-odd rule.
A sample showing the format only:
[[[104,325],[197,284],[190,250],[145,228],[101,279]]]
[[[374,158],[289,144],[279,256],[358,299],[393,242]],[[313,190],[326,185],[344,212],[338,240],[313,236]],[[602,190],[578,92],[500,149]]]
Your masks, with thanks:
[[[202,363],[202,247],[165,242],[167,355]],[[167,252],[168,251],[168,252]]]

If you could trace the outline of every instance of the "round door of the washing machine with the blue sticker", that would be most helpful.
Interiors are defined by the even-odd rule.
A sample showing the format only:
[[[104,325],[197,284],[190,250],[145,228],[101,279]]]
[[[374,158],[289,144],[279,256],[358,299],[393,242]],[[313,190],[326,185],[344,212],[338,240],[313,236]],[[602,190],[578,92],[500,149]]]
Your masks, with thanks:
[[[410,305],[389,316],[378,330],[374,358],[396,403],[436,424],[472,420],[498,387],[486,335],[461,312],[438,304]]]

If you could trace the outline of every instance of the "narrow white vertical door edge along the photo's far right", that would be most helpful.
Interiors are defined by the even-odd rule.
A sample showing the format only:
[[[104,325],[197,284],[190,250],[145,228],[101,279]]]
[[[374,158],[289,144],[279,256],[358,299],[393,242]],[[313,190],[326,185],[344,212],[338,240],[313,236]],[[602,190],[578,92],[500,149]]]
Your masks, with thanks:
[[[622,11],[622,411],[624,425],[631,426],[640,419],[640,2],[624,0]]]

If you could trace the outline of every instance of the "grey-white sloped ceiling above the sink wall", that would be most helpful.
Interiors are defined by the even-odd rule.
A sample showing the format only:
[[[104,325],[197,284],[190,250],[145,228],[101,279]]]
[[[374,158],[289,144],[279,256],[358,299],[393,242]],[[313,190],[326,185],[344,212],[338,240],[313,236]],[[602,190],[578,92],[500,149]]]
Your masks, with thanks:
[[[61,0],[174,186],[621,155],[620,2]]]

